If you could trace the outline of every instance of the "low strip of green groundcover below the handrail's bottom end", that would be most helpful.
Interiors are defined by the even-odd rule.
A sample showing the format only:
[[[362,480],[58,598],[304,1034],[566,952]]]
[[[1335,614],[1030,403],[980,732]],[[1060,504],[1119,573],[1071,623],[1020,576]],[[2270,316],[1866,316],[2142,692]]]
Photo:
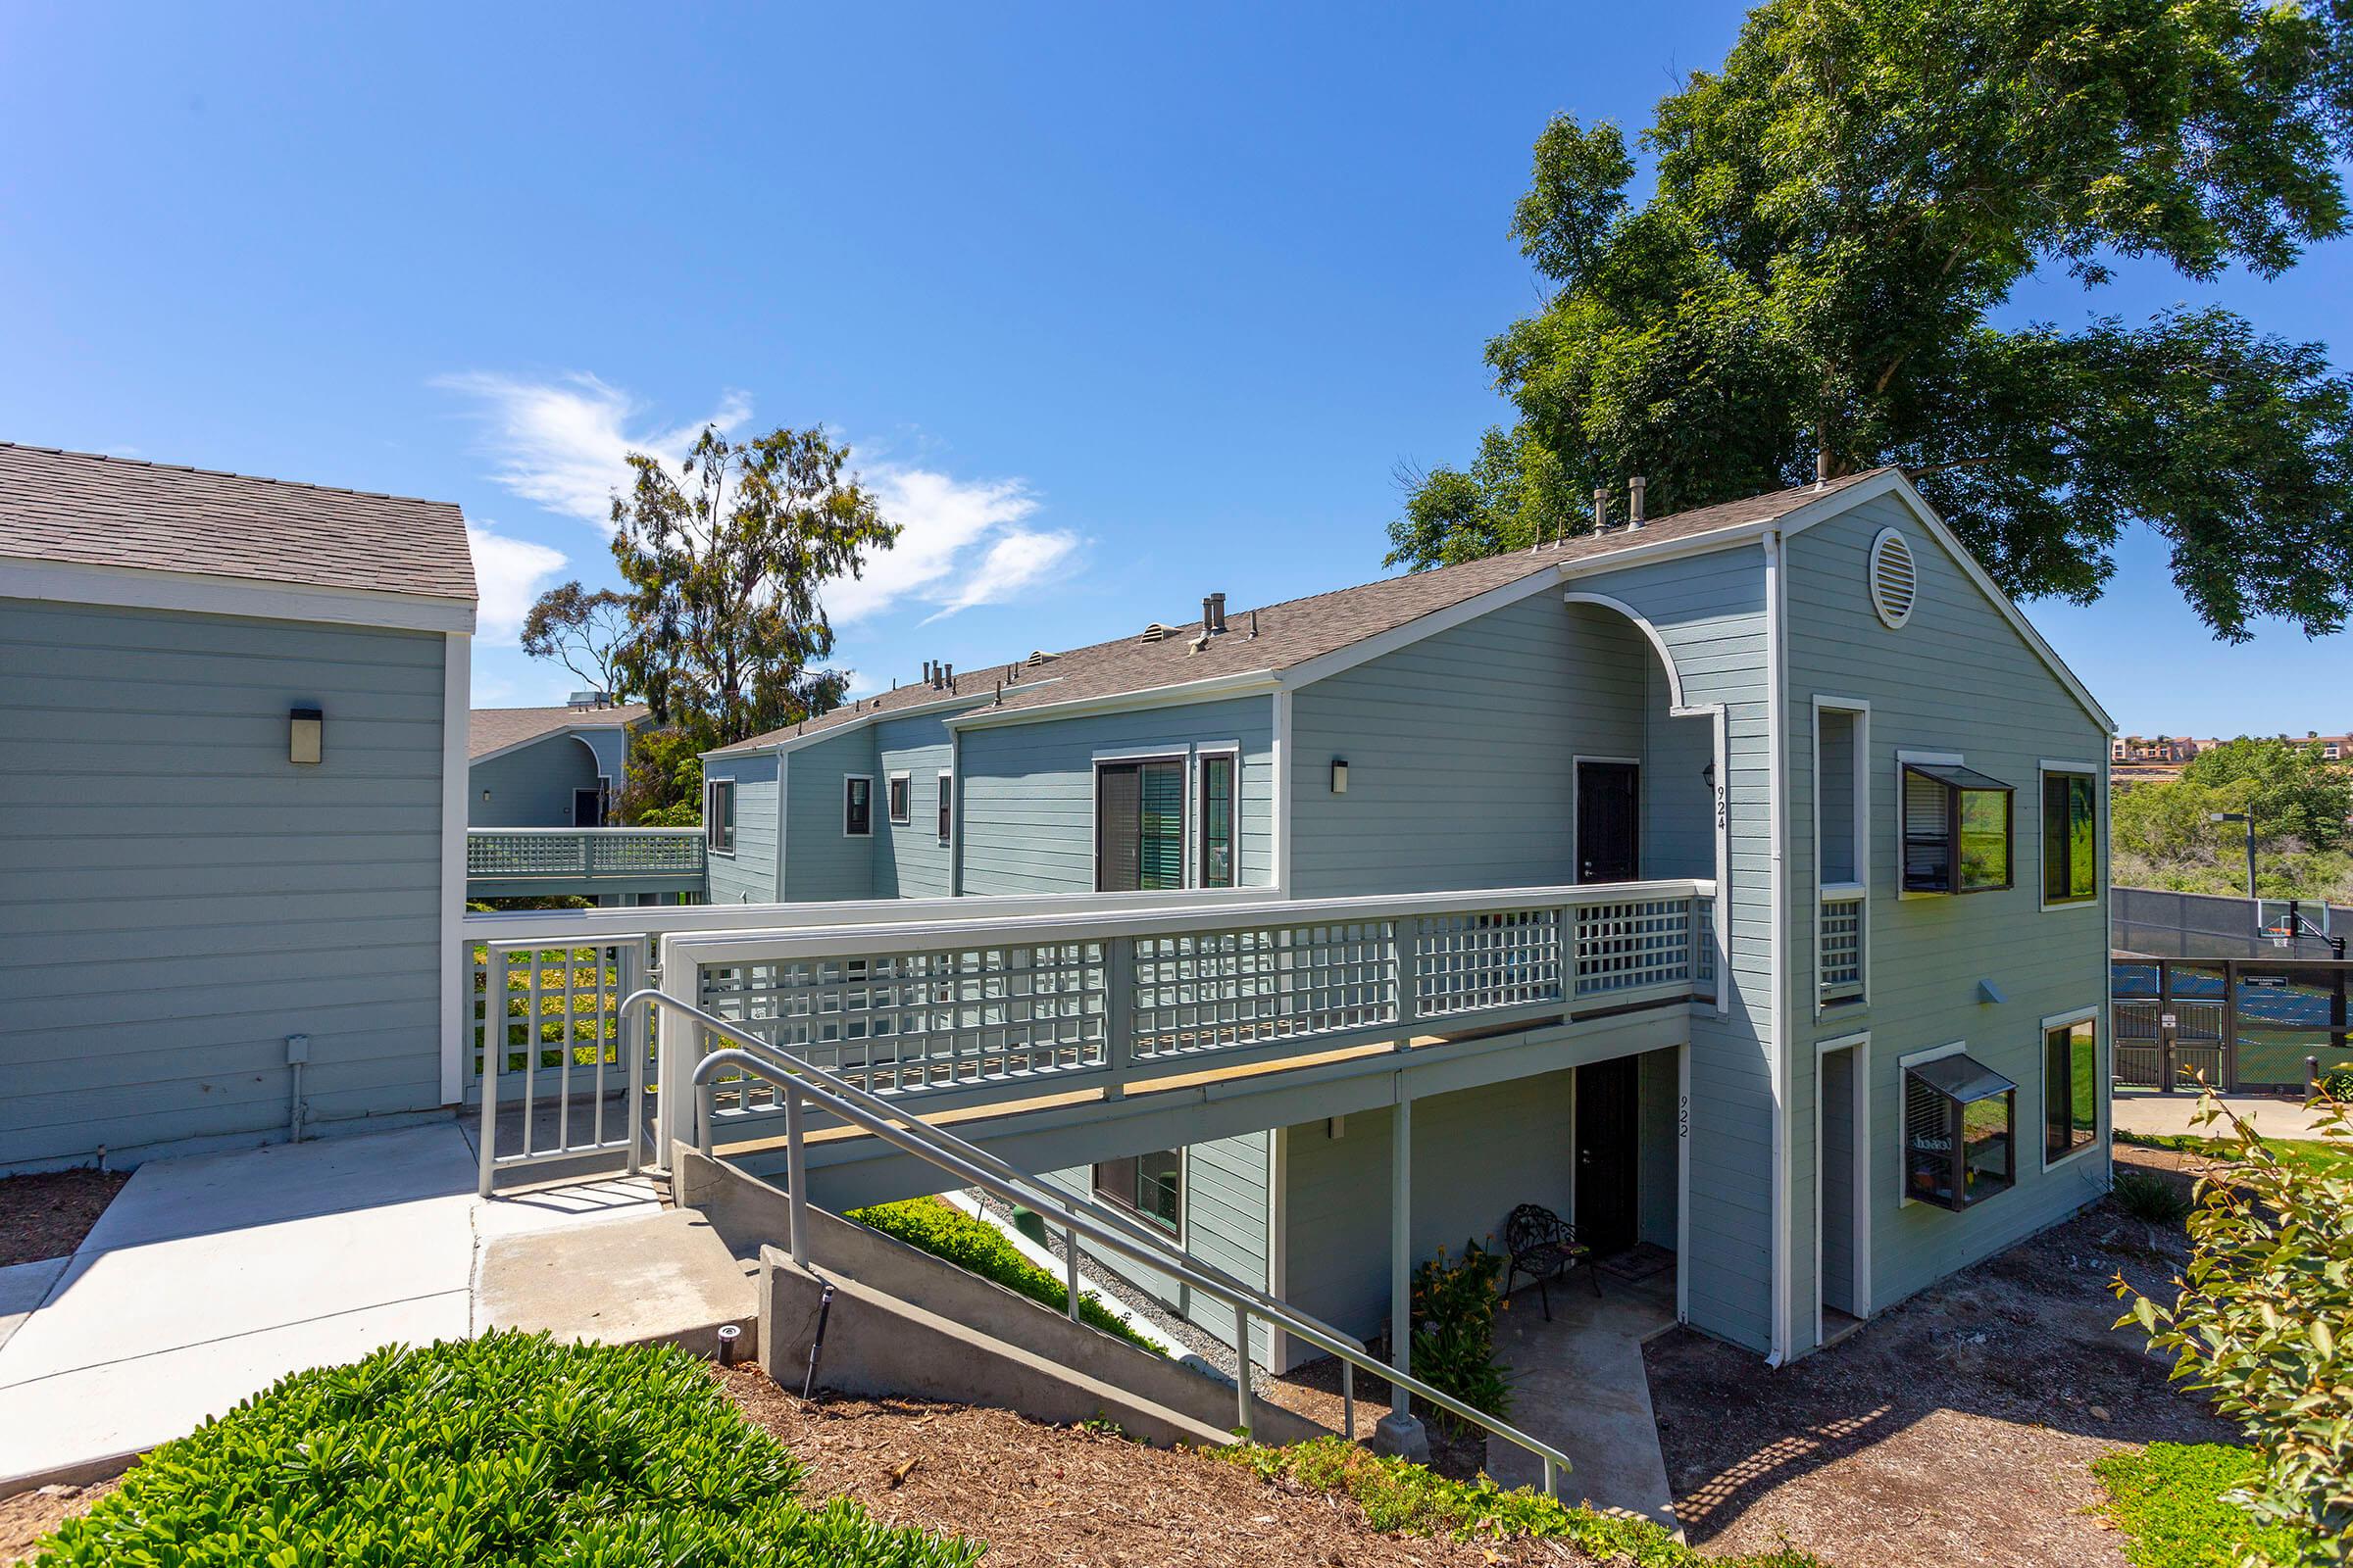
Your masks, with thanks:
[[[1532,1488],[1504,1490],[1487,1476],[1447,1481],[1428,1465],[1377,1455],[1341,1436],[1318,1436],[1289,1448],[1238,1443],[1212,1458],[1242,1465],[1261,1481],[1289,1479],[1320,1493],[1351,1497],[1374,1530],[1447,1540],[1565,1540],[1586,1556],[1635,1568],[1821,1568],[1795,1549],[1760,1556],[1706,1556],[1647,1519],[1621,1519],[1569,1507]]]

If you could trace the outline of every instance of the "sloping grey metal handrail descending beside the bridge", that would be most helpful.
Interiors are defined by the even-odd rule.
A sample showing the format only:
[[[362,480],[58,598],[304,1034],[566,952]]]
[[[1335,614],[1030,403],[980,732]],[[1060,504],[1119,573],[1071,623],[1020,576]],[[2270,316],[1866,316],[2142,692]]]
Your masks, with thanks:
[[[1506,1443],[1513,1443],[1537,1455],[1544,1462],[1546,1493],[1555,1493],[1560,1483],[1560,1472],[1569,1469],[1569,1455],[1560,1453],[1551,1443],[1544,1443],[1520,1432],[1518,1427],[1497,1420],[1494,1415],[1487,1415],[1485,1410],[1478,1410],[1464,1403],[1461,1399],[1431,1387],[1428,1382],[1421,1382],[1412,1373],[1402,1373],[1393,1366],[1377,1361],[1372,1352],[1367,1352],[1365,1345],[1353,1335],[1346,1335],[1332,1328],[1329,1324],[1322,1324],[1308,1316],[1306,1312],[1299,1312],[1297,1307],[1289,1307],[1275,1300],[1273,1295],[1257,1291],[1254,1286],[1245,1286],[1238,1279],[1202,1272],[1200,1267],[1195,1267],[1191,1253],[1162,1241],[1160,1237],[1144,1232],[1141,1227],[1127,1229],[1125,1225],[1106,1225],[1096,1220],[1094,1215],[1085,1213],[1075,1201],[1071,1201],[1068,1194],[1056,1192],[1054,1187],[1047,1187],[1035,1178],[1014,1171],[1002,1159],[984,1150],[976,1150],[974,1145],[965,1143],[962,1138],[955,1138],[953,1133],[934,1128],[922,1117],[915,1117],[908,1110],[889,1105],[887,1100],[880,1100],[878,1095],[859,1088],[856,1084],[838,1079],[835,1074],[826,1072],[824,1067],[816,1067],[814,1063],[805,1063],[800,1058],[788,1058],[786,1063],[772,1060],[769,1056],[765,1056],[765,1051],[769,1051],[772,1046],[758,1034],[751,1034],[727,1023],[725,1018],[715,1018],[701,1011],[699,1006],[680,1001],[678,997],[664,994],[659,990],[640,990],[631,994],[626,1001],[621,1001],[621,1013],[626,1016],[628,1009],[640,1004],[668,1006],[671,1011],[692,1018],[713,1034],[739,1041],[736,1048],[713,1051],[711,1056],[706,1056],[701,1063],[696,1063],[692,1074],[696,1112],[699,1112],[696,1143],[701,1145],[704,1154],[715,1152],[715,1135],[711,1128],[713,1121],[711,1079],[718,1072],[734,1067],[736,1072],[762,1079],[784,1091],[786,1201],[788,1201],[786,1213],[788,1213],[788,1232],[791,1232],[788,1239],[795,1265],[807,1267],[809,1262],[807,1220],[805,1220],[807,1168],[802,1164],[802,1128],[800,1128],[800,1100],[802,1095],[807,1095],[816,1105],[831,1110],[842,1121],[861,1126],[875,1138],[889,1143],[892,1147],[913,1154],[915,1159],[922,1159],[934,1168],[946,1171],[948,1175],[955,1175],[967,1187],[993,1192],[998,1199],[1007,1204],[1024,1204],[1045,1211],[1047,1220],[1056,1222],[1061,1229],[1087,1237],[1099,1246],[1108,1246],[1111,1251],[1134,1262],[1172,1274],[1184,1284],[1193,1286],[1195,1291],[1205,1291],[1207,1295],[1233,1305],[1235,1392],[1238,1392],[1240,1427],[1245,1432],[1252,1425],[1249,1319],[1259,1316],[1268,1326],[1280,1324],[1285,1333],[1299,1335],[1308,1345],[1339,1359],[1341,1382],[1344,1382],[1341,1399],[1346,1401],[1344,1422],[1351,1439],[1355,1436],[1355,1392],[1353,1392],[1355,1368],[1362,1366],[1367,1373],[1388,1380],[1391,1389],[1419,1394],[1440,1410],[1447,1410],[1471,1422],[1473,1427],[1480,1427],[1504,1439]],[[878,1110],[868,1110],[868,1103],[875,1105]],[[904,1126],[896,1126],[894,1119]],[[1073,1246],[1071,1253],[1075,1258],[1078,1248]],[[1409,1333],[1412,1333],[1409,1324],[1391,1326],[1391,1338]]]

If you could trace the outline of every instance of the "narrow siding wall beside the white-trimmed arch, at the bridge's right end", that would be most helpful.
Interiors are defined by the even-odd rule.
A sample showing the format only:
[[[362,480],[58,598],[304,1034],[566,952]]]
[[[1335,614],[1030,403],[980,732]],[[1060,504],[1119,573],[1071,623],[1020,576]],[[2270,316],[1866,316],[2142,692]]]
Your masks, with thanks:
[[[1577,581],[1647,618],[1682,675],[1685,705],[1725,708],[1727,877],[1720,891],[1729,980],[1725,1011],[1692,1009],[1689,1251],[1692,1324],[1765,1349],[1772,1340],[1772,816],[1765,555],[1734,548]],[[1708,719],[1675,719],[1678,755],[1652,785],[1680,788],[1713,752]],[[1701,837],[1661,813],[1678,872],[1699,875]],[[1708,825],[1711,832],[1713,825]],[[1649,867],[1645,867],[1649,870]],[[1664,867],[1661,867],[1664,870]]]

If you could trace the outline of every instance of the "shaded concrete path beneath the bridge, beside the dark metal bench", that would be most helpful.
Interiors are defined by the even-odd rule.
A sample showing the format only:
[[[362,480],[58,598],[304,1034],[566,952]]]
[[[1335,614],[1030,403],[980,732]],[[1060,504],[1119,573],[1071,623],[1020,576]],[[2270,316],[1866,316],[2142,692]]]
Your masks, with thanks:
[[[1534,1286],[1513,1293],[1494,1321],[1497,1356],[1511,1368],[1511,1425],[1569,1455],[1562,1500],[1675,1530],[1642,1371],[1642,1342],[1675,1326],[1675,1272],[1640,1284],[1602,1274],[1595,1298],[1579,1269],[1553,1281],[1551,1298],[1551,1324]],[[1487,1439],[1487,1474],[1499,1486],[1544,1483],[1537,1458],[1501,1439]]]

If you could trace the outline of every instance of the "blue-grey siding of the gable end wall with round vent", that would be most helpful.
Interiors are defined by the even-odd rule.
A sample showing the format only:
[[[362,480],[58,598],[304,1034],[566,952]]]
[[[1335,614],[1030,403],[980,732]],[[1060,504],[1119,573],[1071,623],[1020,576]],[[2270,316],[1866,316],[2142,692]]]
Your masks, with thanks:
[[[1889,630],[1871,609],[1866,569],[1873,536],[1901,529],[1920,574],[1911,621]],[[2045,1173],[2040,1161],[2040,1020],[2106,999],[2104,893],[2089,905],[2040,910],[2040,762],[2085,762],[2106,792],[2101,724],[2042,665],[1995,604],[1894,496],[1798,534],[1788,545],[1791,712],[1814,693],[1871,703],[1871,997],[1809,1023],[1817,1037],[1871,1030],[1871,1211],[1875,1309],[2052,1225],[2106,1187],[2104,1145]],[[2009,891],[1960,898],[1897,898],[1897,752],[1960,752],[1967,766],[2017,785]],[[1812,867],[1812,748],[1791,748],[1791,865]],[[2101,844],[2106,853],[2106,844]],[[1809,870],[1791,884],[1793,1018],[1812,1020],[1814,912]],[[1979,980],[2007,997],[1979,1001]],[[1965,1039],[1969,1053],[2019,1084],[2019,1185],[1967,1213],[1899,1201],[1901,1084],[1897,1060]],[[2106,1041],[2101,1041],[2106,1048]],[[1795,1298],[1809,1331],[1814,1074],[1795,1074],[1791,1126],[1798,1192]]]

